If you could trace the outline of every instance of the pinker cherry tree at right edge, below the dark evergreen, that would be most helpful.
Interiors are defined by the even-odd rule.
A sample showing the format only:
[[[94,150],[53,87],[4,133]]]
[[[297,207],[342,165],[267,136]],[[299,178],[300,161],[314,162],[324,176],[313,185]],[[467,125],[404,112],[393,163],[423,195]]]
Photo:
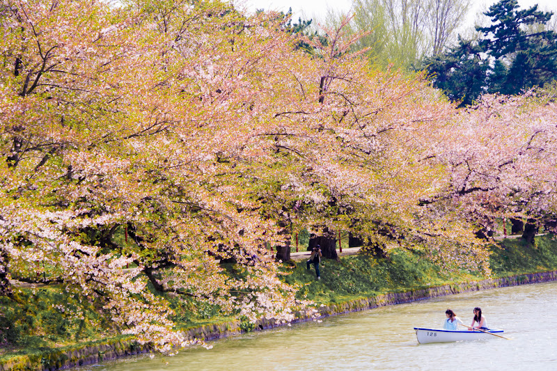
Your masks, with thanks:
[[[505,218],[526,218],[533,230],[544,225],[552,230],[556,113],[551,89],[485,95],[458,111],[439,142],[450,185],[436,200],[462,212],[482,237]],[[524,237],[533,241],[533,235]]]

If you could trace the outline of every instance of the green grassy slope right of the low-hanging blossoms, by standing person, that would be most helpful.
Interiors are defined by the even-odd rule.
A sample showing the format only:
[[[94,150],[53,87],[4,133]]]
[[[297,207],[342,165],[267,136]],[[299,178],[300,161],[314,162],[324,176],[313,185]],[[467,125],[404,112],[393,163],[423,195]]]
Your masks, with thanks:
[[[554,235],[536,237],[534,246],[528,246],[523,239],[503,239],[491,251],[494,278],[557,269]],[[343,257],[340,262],[324,260],[320,281],[315,280],[313,265],[308,271],[305,261],[298,262],[292,270],[285,281],[302,286],[299,297],[305,295],[324,304],[486,278],[464,270],[444,273],[421,255],[408,251],[395,251],[388,259],[360,254]]]

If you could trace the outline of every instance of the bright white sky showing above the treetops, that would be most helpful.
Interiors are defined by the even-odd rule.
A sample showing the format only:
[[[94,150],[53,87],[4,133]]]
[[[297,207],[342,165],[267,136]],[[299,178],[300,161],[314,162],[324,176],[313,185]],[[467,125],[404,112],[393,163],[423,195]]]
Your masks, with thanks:
[[[242,1],[242,0],[240,0]],[[471,28],[473,26],[476,14],[483,9],[489,8],[498,0],[472,0],[473,7],[470,10],[466,21],[463,24],[464,28]],[[297,20],[298,17],[302,19],[323,19],[327,13],[327,8],[334,8],[336,10],[347,11],[350,10],[352,5],[351,0],[243,0],[249,10],[255,11],[256,9],[265,10],[278,10],[286,13],[288,8],[292,8],[294,13],[292,18]],[[530,8],[538,4],[540,10],[552,10],[557,14],[557,3],[555,0],[518,0],[520,8]],[[556,17],[557,15],[554,15]]]

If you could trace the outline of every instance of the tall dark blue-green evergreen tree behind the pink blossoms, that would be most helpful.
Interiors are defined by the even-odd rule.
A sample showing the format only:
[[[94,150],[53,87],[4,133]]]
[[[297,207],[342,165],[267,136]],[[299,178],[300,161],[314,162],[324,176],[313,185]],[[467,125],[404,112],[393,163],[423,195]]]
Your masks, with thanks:
[[[421,65],[450,100],[473,103],[483,93],[518,94],[557,79],[557,34],[544,26],[553,13],[538,6],[519,10],[501,0],[485,13],[492,24],[478,27],[480,40],[462,40]]]

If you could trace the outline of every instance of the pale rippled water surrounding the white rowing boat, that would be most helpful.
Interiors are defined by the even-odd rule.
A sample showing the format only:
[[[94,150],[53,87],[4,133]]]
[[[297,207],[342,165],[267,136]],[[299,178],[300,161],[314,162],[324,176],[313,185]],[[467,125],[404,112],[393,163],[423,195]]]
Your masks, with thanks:
[[[86,370],[557,370],[557,282],[428,299],[218,340],[211,350],[137,356]],[[465,324],[480,306],[504,336],[420,345],[414,326]]]

